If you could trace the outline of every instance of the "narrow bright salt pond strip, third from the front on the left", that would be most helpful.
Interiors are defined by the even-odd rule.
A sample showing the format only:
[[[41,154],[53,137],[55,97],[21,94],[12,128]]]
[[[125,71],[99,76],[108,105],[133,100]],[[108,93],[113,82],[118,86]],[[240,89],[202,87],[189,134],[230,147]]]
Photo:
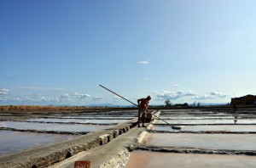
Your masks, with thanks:
[[[95,117],[96,118],[96,117]],[[67,119],[67,118],[39,118],[39,119],[29,119],[26,121],[31,122],[54,122],[54,123],[81,123],[81,124],[119,124],[127,120],[98,120],[98,119]]]

